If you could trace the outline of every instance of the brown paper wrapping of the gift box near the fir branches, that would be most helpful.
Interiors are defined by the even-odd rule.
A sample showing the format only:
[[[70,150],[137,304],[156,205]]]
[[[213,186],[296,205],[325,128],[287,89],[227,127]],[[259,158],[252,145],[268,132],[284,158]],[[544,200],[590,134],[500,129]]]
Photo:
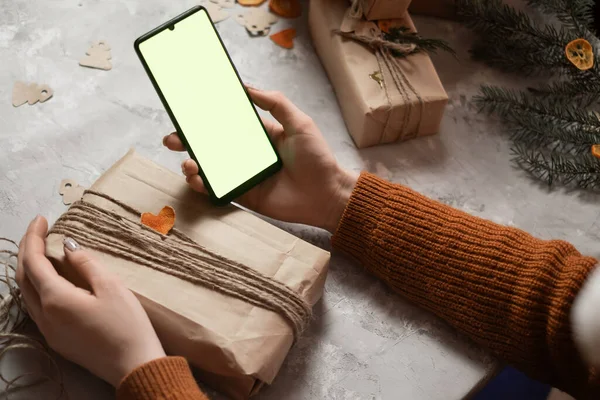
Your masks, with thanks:
[[[348,3],[345,0],[312,0],[309,28],[313,43],[336,92],[346,126],[357,147],[408,140],[437,133],[448,96],[429,56],[418,53],[399,60],[407,80],[423,100],[413,93],[407,102],[393,86],[389,71],[383,77],[385,90],[369,77],[380,67],[366,46],[332,33],[339,29]],[[406,26],[414,30],[408,16]]]

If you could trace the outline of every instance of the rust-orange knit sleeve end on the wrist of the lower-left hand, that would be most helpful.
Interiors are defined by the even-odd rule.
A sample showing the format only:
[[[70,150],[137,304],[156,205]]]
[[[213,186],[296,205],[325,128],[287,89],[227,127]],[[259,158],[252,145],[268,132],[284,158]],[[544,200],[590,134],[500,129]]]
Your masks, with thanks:
[[[164,357],[134,369],[117,388],[117,400],[208,400],[183,357]]]

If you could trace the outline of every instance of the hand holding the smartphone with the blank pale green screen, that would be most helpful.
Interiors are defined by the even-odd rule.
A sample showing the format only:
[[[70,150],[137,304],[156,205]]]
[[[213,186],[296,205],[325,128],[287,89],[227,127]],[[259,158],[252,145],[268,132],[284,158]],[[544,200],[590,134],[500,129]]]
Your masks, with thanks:
[[[260,214],[334,233],[358,176],[342,169],[312,119],[279,92],[248,87],[254,103],[276,121],[263,124],[283,160],[283,169],[236,201]],[[185,151],[176,133],[163,144]],[[198,165],[186,160],[182,171],[196,191],[206,192]]]

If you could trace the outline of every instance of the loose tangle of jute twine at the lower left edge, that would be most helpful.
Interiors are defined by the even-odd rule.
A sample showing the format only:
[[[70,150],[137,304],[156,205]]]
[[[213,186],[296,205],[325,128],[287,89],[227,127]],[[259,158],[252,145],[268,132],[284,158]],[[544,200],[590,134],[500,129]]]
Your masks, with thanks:
[[[8,400],[12,394],[18,394],[21,390],[44,382],[51,382],[58,387],[55,398],[60,399],[64,396],[65,399],[68,399],[62,371],[48,347],[33,337],[17,333],[27,322],[26,310],[15,281],[18,245],[3,237],[0,237],[0,242],[14,248],[14,250],[0,249],[0,265],[3,267],[0,273],[0,283],[4,286],[0,291],[0,363],[13,352],[33,352],[46,359],[55,371],[54,376],[46,375],[43,372],[26,372],[12,378],[6,378],[0,373],[0,382],[4,386],[3,398]]]

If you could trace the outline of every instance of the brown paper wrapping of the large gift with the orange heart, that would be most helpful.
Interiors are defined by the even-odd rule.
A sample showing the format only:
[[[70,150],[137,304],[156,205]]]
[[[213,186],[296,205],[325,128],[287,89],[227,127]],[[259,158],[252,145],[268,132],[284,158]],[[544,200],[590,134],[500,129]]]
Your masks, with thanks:
[[[214,208],[185,179],[131,150],[92,188],[142,212],[170,205],[176,228],[205,247],[285,283],[314,305],[321,297],[329,253],[238,207]],[[94,195],[84,199],[133,219]],[[94,252],[140,299],[168,354],[184,356],[200,379],[246,399],[270,384],[292,346],[281,316],[119,258]],[[68,279],[62,237],[50,235],[47,255]]]

